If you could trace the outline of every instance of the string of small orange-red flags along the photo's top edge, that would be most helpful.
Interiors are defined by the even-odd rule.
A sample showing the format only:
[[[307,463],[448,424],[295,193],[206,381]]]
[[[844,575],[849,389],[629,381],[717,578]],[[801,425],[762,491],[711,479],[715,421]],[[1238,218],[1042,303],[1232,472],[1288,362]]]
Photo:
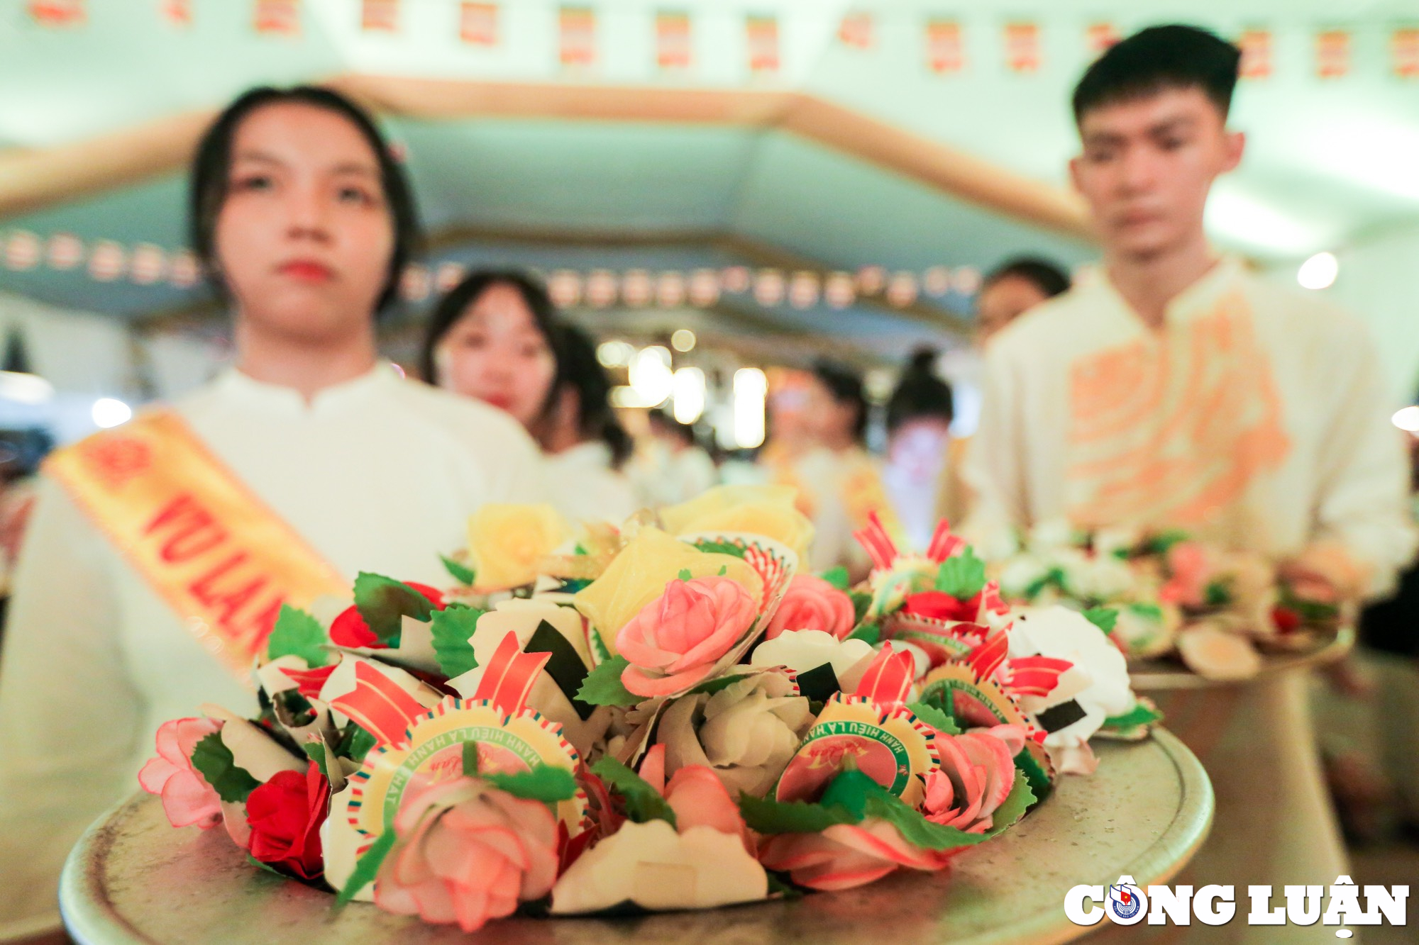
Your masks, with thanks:
[[[28,18],[55,30],[84,27],[89,18],[89,0],[18,0]],[[244,0],[250,3],[250,23],[255,34],[272,38],[298,38],[304,30],[309,0]],[[190,28],[196,14],[193,0],[149,0],[159,20],[175,28]],[[406,26],[412,0],[348,0],[360,31],[396,35]],[[495,50],[508,41],[508,17],[512,0],[446,0],[448,28],[468,47]],[[935,6],[935,4],[932,4]],[[648,10],[654,64],[661,72],[690,72],[695,68],[695,14],[683,10]],[[880,44],[883,14],[854,9],[846,13],[837,30],[837,43],[849,50],[871,52]],[[589,3],[563,3],[556,7],[556,61],[569,72],[590,72],[600,65],[604,51],[603,14]],[[744,68],[751,77],[772,77],[783,70],[785,17],[753,11],[742,17]],[[921,35],[921,62],[935,75],[964,74],[973,64],[966,55],[966,24],[961,18],[939,16],[929,9],[917,18]],[[971,30],[998,33],[998,58],[1007,71],[1033,75],[1046,65],[1044,31],[1076,30],[1088,57],[1097,57],[1121,37],[1118,24],[1091,20],[1071,27],[1046,24],[1033,18],[973,21]],[[1419,17],[1385,27],[1388,72],[1395,78],[1419,79]],[[1355,31],[1321,26],[1310,33],[1311,72],[1321,79],[1337,79],[1355,72]],[[1247,26],[1230,37],[1242,50],[1242,75],[1269,79],[1276,74],[1277,33],[1269,26]],[[982,48],[979,44],[976,50]],[[1368,61],[1368,57],[1366,57]],[[995,65],[995,64],[989,64]]]

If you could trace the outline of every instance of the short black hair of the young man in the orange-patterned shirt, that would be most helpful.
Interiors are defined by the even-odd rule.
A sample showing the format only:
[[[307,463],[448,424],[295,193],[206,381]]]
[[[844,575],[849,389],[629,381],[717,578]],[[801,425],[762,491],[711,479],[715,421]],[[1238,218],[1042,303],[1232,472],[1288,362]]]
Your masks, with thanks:
[[[1114,102],[1168,88],[1199,88],[1222,116],[1232,108],[1242,51],[1216,33],[1171,24],[1141,30],[1114,44],[1074,87],[1074,122]]]

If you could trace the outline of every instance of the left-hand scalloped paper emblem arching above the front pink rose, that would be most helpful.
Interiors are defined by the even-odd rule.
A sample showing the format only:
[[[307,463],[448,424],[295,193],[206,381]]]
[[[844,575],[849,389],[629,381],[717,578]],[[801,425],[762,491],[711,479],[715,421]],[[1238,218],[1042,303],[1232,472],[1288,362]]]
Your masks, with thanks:
[[[420,782],[440,782],[463,775],[463,746],[468,742],[478,745],[478,770],[490,773],[531,770],[534,765],[575,770],[579,761],[561,728],[534,709],[505,715],[488,700],[450,697],[416,718],[404,742],[366,755],[363,766],[350,776],[355,785],[350,824],[370,837],[385,833],[416,776]],[[556,813],[576,836],[586,814],[586,795],[578,790],[556,806]]]

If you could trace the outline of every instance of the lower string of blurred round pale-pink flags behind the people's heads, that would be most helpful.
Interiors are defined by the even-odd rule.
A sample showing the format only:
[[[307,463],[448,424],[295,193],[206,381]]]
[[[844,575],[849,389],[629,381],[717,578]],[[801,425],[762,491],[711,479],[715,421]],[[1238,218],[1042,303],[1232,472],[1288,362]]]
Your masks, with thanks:
[[[41,237],[28,230],[11,230],[0,240],[4,268],[13,272],[53,270],[87,272],[98,282],[128,281],[133,285],[186,289],[201,280],[201,268],[190,250],[166,250],[153,243],[126,245],[116,240],[85,243],[72,233]],[[407,302],[426,302],[443,295],[468,274],[463,262],[410,264],[400,280]],[[932,265],[922,271],[864,265],[854,272],[817,272],[775,267],[701,267],[688,271],[552,270],[541,272],[552,301],[562,308],[711,308],[721,295],[752,298],[763,308],[788,305],[809,309],[820,302],[849,308],[860,299],[881,299],[907,308],[922,297],[971,298],[981,288],[981,271],[972,265]]]

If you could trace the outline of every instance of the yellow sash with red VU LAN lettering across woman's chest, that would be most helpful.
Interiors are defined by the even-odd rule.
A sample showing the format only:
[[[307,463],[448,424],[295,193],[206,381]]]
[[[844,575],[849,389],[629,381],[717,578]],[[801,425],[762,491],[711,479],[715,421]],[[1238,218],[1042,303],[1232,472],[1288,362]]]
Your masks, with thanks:
[[[282,603],[349,590],[170,410],[57,450],[45,471],[244,682]]]

